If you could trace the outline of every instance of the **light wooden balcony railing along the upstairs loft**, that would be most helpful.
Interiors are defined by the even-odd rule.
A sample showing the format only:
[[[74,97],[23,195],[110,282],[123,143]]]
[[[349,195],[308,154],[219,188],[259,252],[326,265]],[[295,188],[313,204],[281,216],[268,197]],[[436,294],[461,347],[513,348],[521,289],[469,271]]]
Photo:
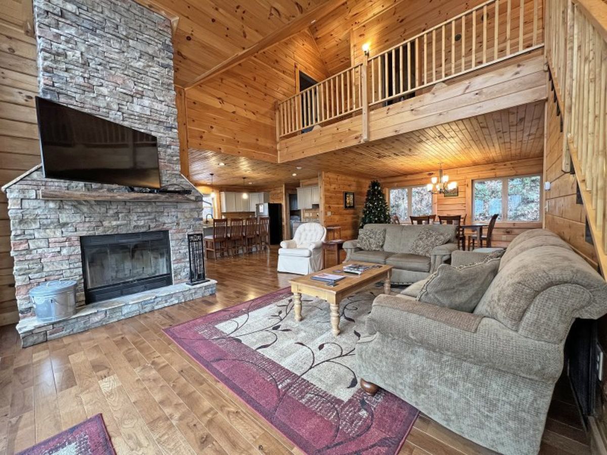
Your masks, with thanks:
[[[543,46],[542,0],[489,0],[277,106],[277,135],[302,132]]]

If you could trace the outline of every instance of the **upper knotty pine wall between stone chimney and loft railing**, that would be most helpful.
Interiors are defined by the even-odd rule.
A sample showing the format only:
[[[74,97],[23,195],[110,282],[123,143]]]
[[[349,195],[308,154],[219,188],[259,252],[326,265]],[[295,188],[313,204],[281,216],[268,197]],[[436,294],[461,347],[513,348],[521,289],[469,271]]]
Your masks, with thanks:
[[[186,90],[189,146],[275,162],[275,103],[296,92],[296,68],[329,75],[308,31]]]

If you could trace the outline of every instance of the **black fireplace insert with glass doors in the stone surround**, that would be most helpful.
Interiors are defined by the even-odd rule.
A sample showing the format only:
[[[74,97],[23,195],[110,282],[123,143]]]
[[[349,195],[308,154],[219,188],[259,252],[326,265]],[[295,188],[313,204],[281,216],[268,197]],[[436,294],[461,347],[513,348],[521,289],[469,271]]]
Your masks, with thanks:
[[[86,303],[170,286],[169,231],[80,238]]]

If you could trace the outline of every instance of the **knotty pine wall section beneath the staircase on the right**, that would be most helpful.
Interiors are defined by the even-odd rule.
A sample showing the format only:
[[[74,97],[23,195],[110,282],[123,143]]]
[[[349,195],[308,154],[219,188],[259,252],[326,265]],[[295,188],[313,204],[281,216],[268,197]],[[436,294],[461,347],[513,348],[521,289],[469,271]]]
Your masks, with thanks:
[[[586,211],[583,204],[576,203],[577,181],[575,175],[561,170],[563,158],[563,133],[561,117],[557,115],[557,104],[549,96],[546,103],[546,175],[551,183],[549,191],[544,192],[547,211],[546,229],[560,235],[575,251],[592,265],[597,265],[594,246],[585,240]]]

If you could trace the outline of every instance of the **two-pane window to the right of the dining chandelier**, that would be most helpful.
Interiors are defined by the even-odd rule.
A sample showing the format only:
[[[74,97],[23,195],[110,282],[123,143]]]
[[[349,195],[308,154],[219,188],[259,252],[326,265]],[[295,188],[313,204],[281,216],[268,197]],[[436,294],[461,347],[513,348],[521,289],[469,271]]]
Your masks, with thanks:
[[[475,221],[539,221],[541,178],[539,175],[473,181]],[[504,216],[505,215],[505,216]]]

